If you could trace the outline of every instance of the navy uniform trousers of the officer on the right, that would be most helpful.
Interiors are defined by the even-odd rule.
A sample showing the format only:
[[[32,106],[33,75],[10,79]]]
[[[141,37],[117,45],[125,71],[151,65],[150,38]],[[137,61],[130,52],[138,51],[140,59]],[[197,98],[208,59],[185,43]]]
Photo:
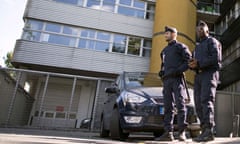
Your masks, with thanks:
[[[219,80],[218,71],[203,71],[195,76],[194,102],[201,127],[213,128],[214,103],[217,84]]]

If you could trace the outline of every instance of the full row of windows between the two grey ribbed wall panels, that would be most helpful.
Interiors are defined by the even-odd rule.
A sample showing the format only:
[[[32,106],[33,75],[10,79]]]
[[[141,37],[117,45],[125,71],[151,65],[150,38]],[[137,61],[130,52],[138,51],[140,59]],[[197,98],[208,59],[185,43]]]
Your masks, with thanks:
[[[43,28],[44,25],[45,28]],[[80,29],[36,20],[27,21],[22,38],[30,41],[143,57],[150,57],[152,44],[150,39],[91,29]]]

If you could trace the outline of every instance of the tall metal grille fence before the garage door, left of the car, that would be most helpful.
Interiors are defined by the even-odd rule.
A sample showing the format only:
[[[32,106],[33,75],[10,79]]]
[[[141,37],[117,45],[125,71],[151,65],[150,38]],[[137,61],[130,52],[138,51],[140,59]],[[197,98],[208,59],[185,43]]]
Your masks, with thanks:
[[[0,125],[98,129],[111,79],[0,68]]]

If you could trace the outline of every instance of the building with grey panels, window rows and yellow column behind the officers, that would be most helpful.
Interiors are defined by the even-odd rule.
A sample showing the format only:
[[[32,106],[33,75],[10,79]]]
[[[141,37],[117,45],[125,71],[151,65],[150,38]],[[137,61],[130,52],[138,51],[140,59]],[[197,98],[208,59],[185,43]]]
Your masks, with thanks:
[[[74,83],[74,79],[31,79],[25,75],[22,81],[30,84],[31,95],[36,99],[31,124],[61,126],[62,119],[69,118],[70,113],[56,115],[66,111],[68,105],[64,104],[64,99],[69,100],[67,97],[74,85],[71,114],[78,122],[68,126],[79,128],[81,120],[91,117],[93,127],[98,128],[104,88],[117,74],[159,71],[159,54],[167,44],[163,37],[166,25],[176,27],[178,40],[192,50],[197,41],[196,23],[206,21],[210,33],[223,43],[220,89],[232,90],[239,84],[239,75],[233,74],[239,64],[239,7],[239,0],[231,0],[231,3],[220,0],[28,0],[13,65],[20,69],[89,78]],[[231,77],[225,79],[228,75]],[[193,82],[193,73],[188,71],[187,78]],[[39,97],[43,95],[44,100]],[[45,123],[38,123],[43,117]],[[53,123],[51,118],[59,118],[59,121]]]

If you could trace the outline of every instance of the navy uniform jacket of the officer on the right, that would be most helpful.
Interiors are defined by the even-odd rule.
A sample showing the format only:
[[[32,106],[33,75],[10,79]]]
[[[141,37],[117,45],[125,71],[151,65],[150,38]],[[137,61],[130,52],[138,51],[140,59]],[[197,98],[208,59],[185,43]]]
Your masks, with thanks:
[[[196,46],[193,57],[198,61],[199,70],[219,70],[222,61],[222,47],[213,37],[205,37]]]

